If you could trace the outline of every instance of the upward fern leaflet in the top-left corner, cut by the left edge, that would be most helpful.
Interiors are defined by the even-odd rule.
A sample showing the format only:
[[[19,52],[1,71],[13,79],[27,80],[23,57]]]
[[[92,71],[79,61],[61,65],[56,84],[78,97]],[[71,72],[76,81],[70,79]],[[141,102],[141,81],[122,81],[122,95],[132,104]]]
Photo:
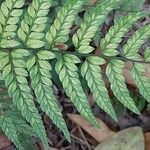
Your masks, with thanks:
[[[15,40],[17,25],[23,10],[25,0],[6,0],[0,9],[0,47],[9,48],[19,46]]]

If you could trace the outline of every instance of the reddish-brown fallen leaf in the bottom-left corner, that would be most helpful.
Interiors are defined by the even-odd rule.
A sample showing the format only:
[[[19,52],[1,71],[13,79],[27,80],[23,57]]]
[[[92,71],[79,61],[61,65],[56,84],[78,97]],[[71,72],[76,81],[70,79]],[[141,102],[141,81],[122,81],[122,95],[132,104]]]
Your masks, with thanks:
[[[11,145],[11,142],[3,134],[0,134],[0,150],[7,148]]]

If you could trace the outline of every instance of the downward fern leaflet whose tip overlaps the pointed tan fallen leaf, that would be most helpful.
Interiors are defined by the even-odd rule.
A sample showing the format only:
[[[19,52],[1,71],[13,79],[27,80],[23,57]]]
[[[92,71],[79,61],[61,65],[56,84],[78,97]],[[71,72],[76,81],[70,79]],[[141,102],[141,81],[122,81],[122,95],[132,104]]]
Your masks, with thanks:
[[[76,66],[79,62],[80,60],[77,56],[66,54],[57,62],[55,69],[66,94],[76,106],[80,114],[88,119],[93,125],[99,126],[90,109],[79,80],[78,68]]]

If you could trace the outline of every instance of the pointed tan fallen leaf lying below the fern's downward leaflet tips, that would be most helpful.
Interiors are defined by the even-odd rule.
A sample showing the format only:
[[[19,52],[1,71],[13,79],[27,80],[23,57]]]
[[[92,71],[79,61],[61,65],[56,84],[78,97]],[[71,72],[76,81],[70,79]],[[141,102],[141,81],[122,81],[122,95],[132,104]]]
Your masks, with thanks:
[[[85,130],[98,142],[101,142],[115,134],[115,132],[111,131],[100,119],[97,119],[97,121],[100,124],[100,128],[98,129],[93,125],[91,125],[86,119],[84,119],[80,115],[75,114],[67,114],[67,115],[70,120],[79,125],[83,130]]]

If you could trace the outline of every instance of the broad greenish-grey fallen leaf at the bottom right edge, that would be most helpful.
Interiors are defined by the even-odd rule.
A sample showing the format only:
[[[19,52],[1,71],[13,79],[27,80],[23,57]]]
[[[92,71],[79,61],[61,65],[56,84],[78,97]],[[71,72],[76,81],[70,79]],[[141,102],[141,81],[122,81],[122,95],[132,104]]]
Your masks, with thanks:
[[[144,150],[144,136],[140,127],[132,127],[116,133],[100,143],[95,150]]]

